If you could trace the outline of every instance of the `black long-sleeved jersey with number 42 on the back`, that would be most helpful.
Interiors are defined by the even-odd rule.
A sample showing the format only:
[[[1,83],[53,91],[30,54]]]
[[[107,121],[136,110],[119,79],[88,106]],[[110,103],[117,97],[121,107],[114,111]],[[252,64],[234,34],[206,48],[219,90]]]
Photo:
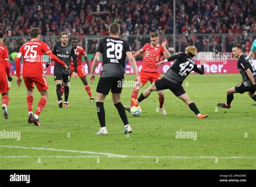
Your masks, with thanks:
[[[185,78],[191,73],[191,71],[196,71],[201,75],[205,73],[204,66],[201,65],[201,69],[199,69],[197,64],[186,53],[173,55],[167,60],[176,60],[172,67],[164,75],[167,80],[173,83],[182,84]]]

